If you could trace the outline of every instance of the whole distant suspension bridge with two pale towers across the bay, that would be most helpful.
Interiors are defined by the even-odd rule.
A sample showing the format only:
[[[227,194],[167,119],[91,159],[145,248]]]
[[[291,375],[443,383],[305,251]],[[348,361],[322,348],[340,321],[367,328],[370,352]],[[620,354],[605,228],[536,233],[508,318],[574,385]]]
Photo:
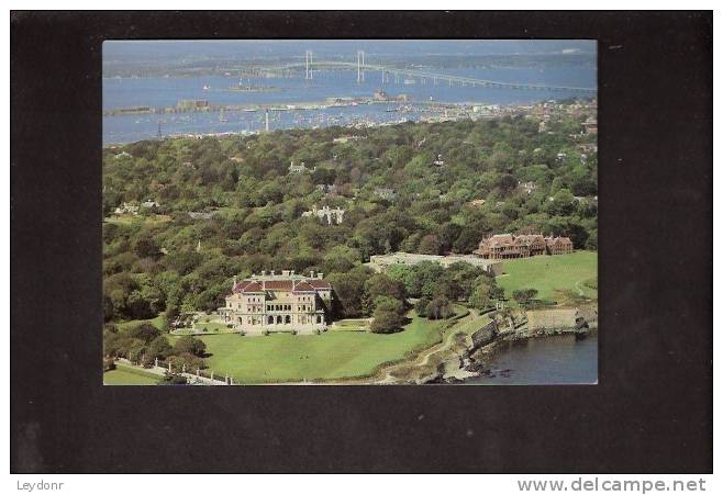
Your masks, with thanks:
[[[321,70],[354,70],[356,69],[356,80],[358,83],[367,81],[367,72],[374,72],[375,76],[369,75],[374,79],[379,78],[381,85],[386,83],[420,83],[420,85],[443,85],[448,86],[463,86],[471,88],[499,88],[512,90],[529,90],[529,91],[567,91],[579,93],[597,93],[597,88],[580,88],[574,86],[554,86],[554,85],[537,85],[529,82],[503,82],[493,81],[488,79],[478,79],[465,76],[454,76],[446,74],[432,72],[419,69],[409,69],[400,67],[383,66],[378,64],[367,64],[365,60],[365,53],[358,50],[356,54],[356,63],[354,61],[333,61],[333,60],[314,60],[313,52],[307,50],[304,54],[304,61],[272,65],[272,66],[255,66],[245,69],[243,72],[253,76],[272,75],[283,77],[298,76],[303,69],[303,77],[307,80],[313,80],[314,72]],[[372,79],[369,79],[370,81]]]

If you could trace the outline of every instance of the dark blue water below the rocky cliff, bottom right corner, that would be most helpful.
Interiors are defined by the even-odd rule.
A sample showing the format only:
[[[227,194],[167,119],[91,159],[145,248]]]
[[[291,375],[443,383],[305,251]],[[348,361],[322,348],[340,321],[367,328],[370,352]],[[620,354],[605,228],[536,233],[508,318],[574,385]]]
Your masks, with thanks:
[[[568,385],[598,382],[598,335],[560,335],[508,342],[491,374],[466,380],[481,385]]]

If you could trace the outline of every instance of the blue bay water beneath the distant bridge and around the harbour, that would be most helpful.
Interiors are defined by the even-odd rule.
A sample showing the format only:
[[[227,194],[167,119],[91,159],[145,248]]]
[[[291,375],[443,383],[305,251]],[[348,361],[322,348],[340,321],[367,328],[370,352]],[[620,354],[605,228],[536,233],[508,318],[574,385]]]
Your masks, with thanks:
[[[432,71],[434,69],[425,69]],[[597,87],[597,71],[592,65],[550,66],[535,68],[479,68],[436,69],[454,76],[465,76],[500,82]],[[409,95],[416,102],[524,104],[550,99],[587,97],[576,91],[514,90],[449,86],[447,82],[404,78],[394,81],[381,72],[366,71],[365,81],[357,82],[356,70],[315,71],[313,80],[301,77],[243,79],[244,85],[270,86],[276,91],[229,91],[237,85],[237,76],[157,77],[157,78],[105,78],[103,79],[103,110],[130,106],[175,106],[179,100],[208,100],[211,105],[274,105],[322,102],[327,98],[371,98],[381,89],[390,97]],[[204,90],[204,87],[210,89]],[[415,121],[430,115],[422,108],[399,112],[399,104],[337,106],[321,110],[271,111],[270,130],[347,125],[358,122]],[[438,113],[437,113],[438,114]],[[131,143],[155,138],[158,123],[164,135],[257,132],[264,128],[264,112],[176,113],[164,115],[122,115],[103,117],[103,144]]]

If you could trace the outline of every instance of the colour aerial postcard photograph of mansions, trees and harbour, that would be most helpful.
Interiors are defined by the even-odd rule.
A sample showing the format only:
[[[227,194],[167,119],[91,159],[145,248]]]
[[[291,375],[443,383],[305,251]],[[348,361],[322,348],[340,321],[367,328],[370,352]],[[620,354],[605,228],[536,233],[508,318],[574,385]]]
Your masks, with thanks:
[[[596,384],[597,80],[588,40],[104,42],[103,383]]]

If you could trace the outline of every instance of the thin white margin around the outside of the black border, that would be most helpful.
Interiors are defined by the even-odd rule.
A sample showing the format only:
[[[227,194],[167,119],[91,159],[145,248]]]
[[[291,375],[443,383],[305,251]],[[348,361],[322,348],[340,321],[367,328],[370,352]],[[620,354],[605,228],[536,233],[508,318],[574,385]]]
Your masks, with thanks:
[[[303,2],[277,1],[265,0],[264,2],[244,2],[244,1],[148,1],[148,0],[124,0],[124,1],[104,1],[102,5],[100,2],[91,1],[26,1],[26,2],[10,2],[11,9],[15,10],[36,10],[36,9],[173,9],[173,10],[192,10],[192,9],[231,9],[231,10],[254,10],[254,9],[275,9],[275,10],[337,10],[341,8],[363,10],[363,9],[400,9],[400,10],[422,10],[422,9],[446,9],[446,10],[475,10],[480,7],[488,9],[515,9],[515,10],[534,10],[534,9],[560,9],[560,10],[579,10],[579,9],[713,9],[713,2],[652,2],[652,1],[619,1],[611,0],[607,2],[581,2],[581,1],[515,1],[508,0],[504,2],[482,2],[482,1],[456,1],[446,0],[442,3],[425,2],[423,0],[365,0],[364,2],[342,2],[336,1],[319,1],[309,0]],[[293,495],[313,493],[314,495],[356,495],[356,494],[446,494],[446,493],[465,493],[480,495],[503,495],[503,494],[519,494],[522,493],[518,490],[515,480],[530,480],[530,479],[550,479],[561,480],[566,479],[568,483],[578,480],[578,475],[560,476],[560,475],[15,475],[9,474],[10,470],[10,15],[9,11],[5,14],[5,22],[2,24],[3,46],[2,56],[4,58],[2,69],[8,72],[2,78],[5,98],[2,100],[4,119],[2,120],[2,147],[4,161],[2,167],[2,177],[0,184],[0,193],[3,195],[0,207],[2,214],[0,222],[2,222],[2,229],[7,233],[0,243],[0,267],[2,270],[2,297],[0,299],[0,322],[5,329],[5,338],[2,339],[2,367],[5,370],[4,380],[2,383],[2,407],[0,414],[4,428],[0,429],[3,449],[0,451],[0,470],[3,471],[0,477],[0,490],[3,493],[29,493],[26,491],[18,491],[18,483],[36,483],[41,480],[45,482],[63,482],[64,487],[58,493],[64,494],[99,494],[99,495],[114,495],[114,494],[164,494],[164,495],[207,495],[215,494],[219,492],[229,494],[254,494],[254,495],[268,495],[276,493],[288,493]],[[714,18],[718,18],[718,12]],[[714,42],[714,48],[720,48],[720,42]],[[720,64],[716,64],[720,58],[721,50],[715,50],[718,56],[714,57],[714,75],[718,75]],[[719,79],[720,81],[720,79]],[[718,115],[720,110],[720,102],[714,104],[714,114]],[[723,136],[720,135],[720,130],[714,128],[714,142],[720,142]],[[715,162],[715,149],[714,149]],[[720,175],[713,175],[714,191],[720,191]],[[714,201],[714,212],[720,213],[721,202]],[[720,217],[719,217],[720,218]],[[714,222],[715,224],[715,222]],[[714,238],[718,239],[718,229],[714,228]],[[715,250],[715,243],[714,243]],[[718,285],[716,279],[719,273],[714,265],[714,319],[713,328],[718,328],[720,320],[721,301],[720,293],[715,292]],[[714,353],[720,350],[721,339],[714,340]],[[720,373],[714,371],[714,379],[719,387],[722,383]],[[718,405],[720,393],[714,393],[714,404]],[[714,409],[715,410],[715,409]],[[720,443],[721,432],[720,429],[715,431],[714,443]],[[71,452],[69,452],[71,454]],[[685,452],[681,452],[685,455]],[[715,472],[720,472],[720,457],[714,462]],[[593,479],[594,476],[585,476],[585,479]],[[710,493],[721,484],[718,483],[716,475],[646,475],[646,476],[598,476],[600,480],[705,480],[707,492]],[[38,492],[33,492],[38,493]],[[42,493],[42,492],[41,492]],[[572,492],[575,493],[575,492]],[[592,493],[592,492],[583,492]],[[654,493],[654,492],[648,492]]]

